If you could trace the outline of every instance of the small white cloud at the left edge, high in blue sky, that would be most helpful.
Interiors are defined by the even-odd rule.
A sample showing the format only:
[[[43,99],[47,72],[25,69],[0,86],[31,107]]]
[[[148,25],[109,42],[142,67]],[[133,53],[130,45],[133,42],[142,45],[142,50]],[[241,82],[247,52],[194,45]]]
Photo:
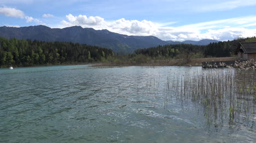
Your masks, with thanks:
[[[25,17],[25,14],[21,10],[15,9],[15,8],[8,8],[8,7],[0,8],[0,14],[8,17],[19,17],[19,18]]]

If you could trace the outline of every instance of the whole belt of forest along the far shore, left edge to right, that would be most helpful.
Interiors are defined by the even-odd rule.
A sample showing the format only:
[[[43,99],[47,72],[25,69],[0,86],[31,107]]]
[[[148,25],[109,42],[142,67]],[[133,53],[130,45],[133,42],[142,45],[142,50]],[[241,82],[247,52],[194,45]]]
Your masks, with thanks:
[[[231,57],[239,42],[256,42],[256,38],[235,39],[206,46],[179,44],[137,49],[132,54],[114,54],[112,49],[72,42],[44,42],[0,38],[0,67],[57,65],[74,63],[147,63],[150,60]],[[182,65],[181,64],[181,65]]]

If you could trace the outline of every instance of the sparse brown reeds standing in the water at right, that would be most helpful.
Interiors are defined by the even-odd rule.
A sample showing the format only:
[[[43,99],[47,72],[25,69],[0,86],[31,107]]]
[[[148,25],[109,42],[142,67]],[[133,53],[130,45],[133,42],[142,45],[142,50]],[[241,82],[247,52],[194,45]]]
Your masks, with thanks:
[[[166,93],[200,104],[211,127],[253,125],[256,104],[254,70],[211,69],[167,77]]]

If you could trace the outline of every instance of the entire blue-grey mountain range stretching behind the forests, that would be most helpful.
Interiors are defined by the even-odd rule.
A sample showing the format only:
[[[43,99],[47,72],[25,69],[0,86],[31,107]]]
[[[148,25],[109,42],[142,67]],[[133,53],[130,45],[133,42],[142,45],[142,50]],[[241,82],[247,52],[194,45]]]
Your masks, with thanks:
[[[104,48],[113,49],[118,53],[131,53],[138,48],[149,48],[158,45],[191,43],[194,45],[208,45],[217,40],[200,41],[163,41],[155,36],[127,36],[123,34],[109,32],[108,30],[95,30],[93,28],[82,28],[73,26],[67,28],[50,28],[46,26],[29,27],[0,27],[0,36],[7,39],[31,39],[40,41],[66,41],[85,43]]]

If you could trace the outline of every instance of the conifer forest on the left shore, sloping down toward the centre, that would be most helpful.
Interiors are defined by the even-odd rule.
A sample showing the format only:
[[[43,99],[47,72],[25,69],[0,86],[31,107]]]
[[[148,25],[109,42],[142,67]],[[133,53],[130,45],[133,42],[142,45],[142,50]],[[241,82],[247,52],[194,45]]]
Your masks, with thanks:
[[[91,63],[112,56],[111,49],[79,43],[0,38],[0,67]]]

